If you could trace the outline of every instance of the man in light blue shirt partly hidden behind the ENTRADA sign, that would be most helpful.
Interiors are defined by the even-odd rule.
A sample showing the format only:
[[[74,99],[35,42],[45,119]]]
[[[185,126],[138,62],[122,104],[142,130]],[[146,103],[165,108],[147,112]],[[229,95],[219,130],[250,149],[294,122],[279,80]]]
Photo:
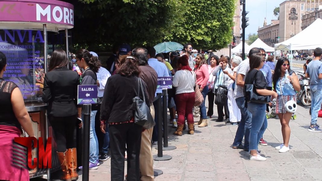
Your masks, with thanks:
[[[162,62],[159,62],[158,59],[156,59],[156,50],[153,47],[147,48],[147,54],[148,54],[148,61],[147,63],[149,66],[151,66],[155,71],[158,77],[169,77],[169,71],[168,68],[166,68],[166,65]],[[156,94],[162,93],[162,89],[156,89]],[[156,96],[155,94],[155,96]],[[159,110],[159,105],[157,104],[157,101],[153,102],[153,106],[155,110]],[[155,112],[155,118],[154,121],[156,122],[156,125],[153,128],[152,133],[152,144],[157,144],[158,140],[158,115],[159,112]],[[160,120],[161,121],[161,120]],[[162,133],[160,133],[162,134]]]

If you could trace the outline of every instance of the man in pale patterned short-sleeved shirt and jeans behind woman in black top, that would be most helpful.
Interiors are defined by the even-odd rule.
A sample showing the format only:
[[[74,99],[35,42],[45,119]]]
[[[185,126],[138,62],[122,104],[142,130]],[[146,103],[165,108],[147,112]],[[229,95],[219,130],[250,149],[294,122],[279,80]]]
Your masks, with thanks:
[[[249,51],[249,56],[253,53],[260,53],[259,48],[252,48]],[[237,77],[236,77],[236,86],[234,91],[234,96],[236,100],[237,107],[241,110],[242,119],[238,125],[238,129],[236,131],[236,136],[234,142],[232,144],[233,149],[244,149],[248,151],[249,149],[249,133],[251,130],[251,113],[247,109],[246,98],[244,95],[244,83],[245,77],[250,70],[249,67],[249,59],[242,61],[237,68]],[[242,139],[245,135],[244,146],[242,146]]]

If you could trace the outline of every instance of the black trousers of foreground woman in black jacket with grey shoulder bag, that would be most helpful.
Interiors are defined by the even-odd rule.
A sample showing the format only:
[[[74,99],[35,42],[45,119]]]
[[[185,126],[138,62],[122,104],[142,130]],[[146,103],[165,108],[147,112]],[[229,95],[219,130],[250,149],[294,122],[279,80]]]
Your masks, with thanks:
[[[125,145],[128,153],[127,181],[140,180],[142,127],[134,123],[109,125],[111,181],[124,181]]]

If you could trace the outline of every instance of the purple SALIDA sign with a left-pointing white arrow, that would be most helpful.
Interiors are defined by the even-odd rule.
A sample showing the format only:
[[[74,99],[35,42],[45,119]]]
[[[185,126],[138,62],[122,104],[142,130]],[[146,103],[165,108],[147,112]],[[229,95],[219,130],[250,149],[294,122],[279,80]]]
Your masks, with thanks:
[[[77,104],[97,104],[97,85],[79,85]]]

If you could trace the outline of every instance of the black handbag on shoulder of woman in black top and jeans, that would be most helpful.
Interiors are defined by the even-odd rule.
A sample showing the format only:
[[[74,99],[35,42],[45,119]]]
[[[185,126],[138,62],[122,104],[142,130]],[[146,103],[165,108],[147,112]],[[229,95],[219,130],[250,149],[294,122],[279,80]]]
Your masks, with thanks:
[[[254,75],[256,77],[257,71]],[[245,97],[246,101],[248,103],[260,103],[260,104],[267,104],[270,102],[270,96],[269,95],[260,95],[256,92],[256,88],[254,87],[255,80],[253,81],[253,84],[246,84],[245,85]]]

